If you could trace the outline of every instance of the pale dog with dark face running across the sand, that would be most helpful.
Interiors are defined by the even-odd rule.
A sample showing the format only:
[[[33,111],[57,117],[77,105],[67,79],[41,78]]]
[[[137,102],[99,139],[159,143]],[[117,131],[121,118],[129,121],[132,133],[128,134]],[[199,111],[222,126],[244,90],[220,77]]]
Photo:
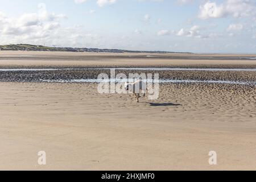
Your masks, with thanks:
[[[126,82],[125,89],[126,89],[126,91],[129,90],[131,93],[133,93],[137,102],[139,102],[139,98],[141,98],[141,96],[140,96],[141,93],[143,93],[143,97],[146,96],[147,84],[146,84],[146,82],[144,82],[142,80],[137,80],[132,83]]]

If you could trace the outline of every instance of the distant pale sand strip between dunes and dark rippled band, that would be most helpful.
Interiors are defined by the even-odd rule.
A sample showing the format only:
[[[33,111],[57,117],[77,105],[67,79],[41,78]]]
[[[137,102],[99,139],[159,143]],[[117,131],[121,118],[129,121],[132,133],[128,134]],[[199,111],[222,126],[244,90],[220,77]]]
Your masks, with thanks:
[[[256,60],[239,57],[256,55],[196,55],[204,59],[188,59],[193,55],[184,55],[185,59],[163,59],[168,54],[158,54],[159,58],[147,57],[151,54],[137,53],[86,53],[86,52],[27,52],[0,51],[1,68],[32,67],[198,67],[198,68],[256,68]],[[179,54],[171,54],[179,56]],[[221,57],[221,60],[213,59]],[[43,57],[43,58],[42,58]],[[136,57],[142,57],[136,59]],[[226,59],[225,59],[226,57]],[[238,57],[229,60],[228,57]]]

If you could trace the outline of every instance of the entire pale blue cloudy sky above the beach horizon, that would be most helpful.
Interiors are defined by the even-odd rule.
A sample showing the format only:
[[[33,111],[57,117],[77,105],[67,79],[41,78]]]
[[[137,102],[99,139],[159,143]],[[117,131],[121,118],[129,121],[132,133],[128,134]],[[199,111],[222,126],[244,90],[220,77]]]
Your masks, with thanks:
[[[256,0],[0,0],[0,44],[256,53]]]

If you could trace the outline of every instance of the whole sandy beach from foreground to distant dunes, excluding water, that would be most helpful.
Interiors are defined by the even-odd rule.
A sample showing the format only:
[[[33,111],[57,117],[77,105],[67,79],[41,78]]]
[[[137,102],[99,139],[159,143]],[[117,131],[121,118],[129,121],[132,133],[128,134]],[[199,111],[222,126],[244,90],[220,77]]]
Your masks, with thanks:
[[[0,68],[256,68],[256,60],[239,60],[255,55],[133,56],[2,51]],[[256,81],[255,71],[159,73],[163,79]],[[88,74],[0,72],[0,169],[256,169],[255,85],[166,83],[157,100],[137,103],[130,94],[100,94],[96,83],[38,81]],[[39,151],[46,151],[45,166],[38,164]],[[209,151],[216,151],[217,165],[209,165]]]

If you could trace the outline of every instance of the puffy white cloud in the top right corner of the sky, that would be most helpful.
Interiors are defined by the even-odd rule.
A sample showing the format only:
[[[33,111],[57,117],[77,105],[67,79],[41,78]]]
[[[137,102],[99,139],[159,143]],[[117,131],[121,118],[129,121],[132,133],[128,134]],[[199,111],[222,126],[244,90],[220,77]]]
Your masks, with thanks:
[[[222,18],[231,15],[234,18],[255,17],[256,3],[254,0],[227,0],[220,5],[216,2],[206,2],[200,5],[199,18]]]

